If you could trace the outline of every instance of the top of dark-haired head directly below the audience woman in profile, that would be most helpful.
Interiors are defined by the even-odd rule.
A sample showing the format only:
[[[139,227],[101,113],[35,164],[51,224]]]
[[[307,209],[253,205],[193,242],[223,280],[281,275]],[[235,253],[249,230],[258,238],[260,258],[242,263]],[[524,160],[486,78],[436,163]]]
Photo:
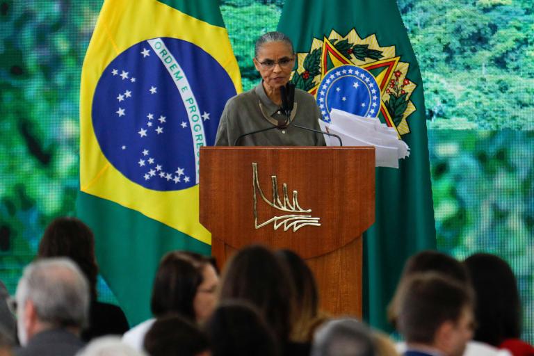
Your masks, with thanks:
[[[191,321],[177,315],[157,319],[145,336],[144,347],[150,356],[209,355],[209,341]]]

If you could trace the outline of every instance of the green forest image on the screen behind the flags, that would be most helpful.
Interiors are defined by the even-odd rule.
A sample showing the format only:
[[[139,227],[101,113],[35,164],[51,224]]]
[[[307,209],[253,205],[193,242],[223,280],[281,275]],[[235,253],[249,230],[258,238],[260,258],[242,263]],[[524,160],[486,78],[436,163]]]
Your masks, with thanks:
[[[221,1],[243,88],[284,1]],[[102,0],[0,0],[0,280],[15,291],[79,189],[81,64]],[[534,341],[534,7],[398,0],[423,76],[437,244],[512,265]],[[305,10],[305,9],[302,9]],[[100,298],[113,301],[101,280]],[[530,316],[530,317],[527,317]]]

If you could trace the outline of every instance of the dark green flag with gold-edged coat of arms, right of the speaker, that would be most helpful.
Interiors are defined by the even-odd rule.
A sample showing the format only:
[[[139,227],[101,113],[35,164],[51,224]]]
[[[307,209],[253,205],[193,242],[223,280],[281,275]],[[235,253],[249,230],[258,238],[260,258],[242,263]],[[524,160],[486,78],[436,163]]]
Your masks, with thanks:
[[[340,72],[336,67],[357,65],[372,74],[380,88],[375,115],[410,147],[398,170],[377,168],[376,221],[364,235],[364,318],[385,329],[405,260],[435,248],[423,83],[401,14],[394,0],[287,0],[278,31],[298,53],[293,83],[316,97],[323,78]]]

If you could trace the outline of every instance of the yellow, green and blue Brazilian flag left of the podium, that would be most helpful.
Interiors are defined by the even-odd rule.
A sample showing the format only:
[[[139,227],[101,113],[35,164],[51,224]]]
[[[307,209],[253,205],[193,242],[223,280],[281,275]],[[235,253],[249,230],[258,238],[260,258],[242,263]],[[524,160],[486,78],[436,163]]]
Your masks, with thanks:
[[[211,252],[198,222],[200,147],[237,92],[218,1],[104,1],[81,74],[77,211],[131,324],[150,316],[165,252]]]

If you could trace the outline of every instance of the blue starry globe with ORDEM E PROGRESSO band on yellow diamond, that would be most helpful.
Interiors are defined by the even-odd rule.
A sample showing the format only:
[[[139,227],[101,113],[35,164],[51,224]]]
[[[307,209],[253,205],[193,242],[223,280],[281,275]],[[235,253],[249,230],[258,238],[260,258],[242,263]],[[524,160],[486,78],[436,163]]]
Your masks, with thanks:
[[[206,51],[154,38],[106,67],[92,101],[92,125],[104,156],[125,177],[177,191],[198,183],[200,147],[213,145],[234,95],[232,79]]]

